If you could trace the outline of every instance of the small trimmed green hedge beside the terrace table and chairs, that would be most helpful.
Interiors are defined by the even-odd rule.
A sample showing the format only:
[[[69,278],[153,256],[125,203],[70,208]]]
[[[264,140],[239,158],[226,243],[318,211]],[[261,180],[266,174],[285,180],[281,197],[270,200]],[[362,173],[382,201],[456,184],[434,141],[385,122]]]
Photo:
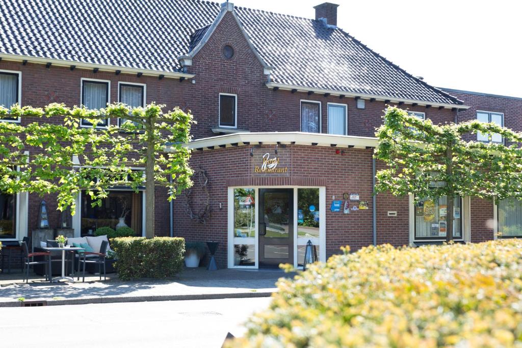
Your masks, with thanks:
[[[121,280],[173,277],[185,255],[185,239],[178,237],[117,237],[111,247],[118,255],[114,267]]]

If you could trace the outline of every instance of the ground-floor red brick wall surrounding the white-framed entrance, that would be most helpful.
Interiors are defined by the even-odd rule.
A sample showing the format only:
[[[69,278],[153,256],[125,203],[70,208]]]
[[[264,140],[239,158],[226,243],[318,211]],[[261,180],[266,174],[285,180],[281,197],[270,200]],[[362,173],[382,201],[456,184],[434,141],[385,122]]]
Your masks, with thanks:
[[[205,224],[191,220],[186,214],[185,198],[177,198],[174,202],[174,235],[189,241],[221,242],[217,259],[224,267],[227,264],[227,186],[240,186],[238,184],[241,183],[244,186],[302,185],[310,180],[309,186],[326,186],[326,255],[339,253],[339,248],[345,245],[357,250],[372,244],[372,150],[343,149],[346,153],[340,155],[335,153],[335,148],[287,146],[279,148],[278,167],[287,166],[288,172],[259,174],[254,173],[254,166],[256,163],[259,165],[265,151],[274,155],[274,146],[256,148],[254,157],[250,156],[250,148],[242,146],[194,152],[192,166],[204,169],[209,179],[212,214]],[[325,168],[328,169],[327,176]],[[359,193],[360,199],[368,202],[369,209],[351,211],[350,214],[330,212],[332,196],[343,200],[343,193]],[[206,196],[200,189],[196,189],[193,197],[206,202]],[[200,206],[194,198],[192,209],[197,211]],[[222,209],[219,209],[219,203]],[[386,211],[392,209],[390,207],[398,211],[398,218],[386,216]],[[407,208],[407,200],[405,203],[404,199],[378,196],[378,243],[397,246],[408,243]]]

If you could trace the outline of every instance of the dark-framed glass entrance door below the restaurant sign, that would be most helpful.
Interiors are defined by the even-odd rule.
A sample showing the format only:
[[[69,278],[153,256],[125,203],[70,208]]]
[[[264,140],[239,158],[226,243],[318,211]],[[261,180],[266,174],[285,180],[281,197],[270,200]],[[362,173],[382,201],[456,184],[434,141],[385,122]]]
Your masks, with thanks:
[[[259,267],[293,264],[293,189],[259,189]]]

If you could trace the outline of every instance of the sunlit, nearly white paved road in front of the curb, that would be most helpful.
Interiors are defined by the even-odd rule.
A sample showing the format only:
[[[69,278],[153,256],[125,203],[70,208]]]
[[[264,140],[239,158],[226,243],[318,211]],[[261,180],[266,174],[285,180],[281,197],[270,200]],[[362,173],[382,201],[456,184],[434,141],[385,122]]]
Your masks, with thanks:
[[[221,347],[269,297],[0,308],[2,347]],[[59,337],[62,337],[62,341]]]

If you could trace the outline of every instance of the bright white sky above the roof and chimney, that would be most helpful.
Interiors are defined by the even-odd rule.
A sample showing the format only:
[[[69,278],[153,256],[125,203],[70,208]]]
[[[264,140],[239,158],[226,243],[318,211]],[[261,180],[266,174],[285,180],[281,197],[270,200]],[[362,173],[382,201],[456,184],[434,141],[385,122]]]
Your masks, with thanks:
[[[230,0],[315,18],[321,0]],[[522,98],[522,2],[330,0],[337,26],[435,87]]]

